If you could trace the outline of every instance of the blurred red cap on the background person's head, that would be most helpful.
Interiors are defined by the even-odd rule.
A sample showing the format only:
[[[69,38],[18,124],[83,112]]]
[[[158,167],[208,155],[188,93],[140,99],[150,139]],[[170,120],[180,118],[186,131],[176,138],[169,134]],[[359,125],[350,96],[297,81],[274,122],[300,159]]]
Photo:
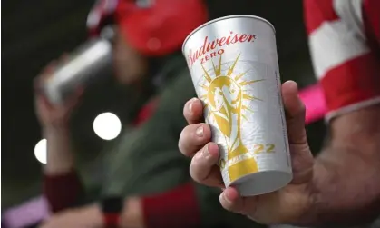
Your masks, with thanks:
[[[119,29],[144,55],[167,55],[180,49],[186,36],[208,19],[202,0],[149,2],[142,7],[138,1],[122,0],[116,7]]]

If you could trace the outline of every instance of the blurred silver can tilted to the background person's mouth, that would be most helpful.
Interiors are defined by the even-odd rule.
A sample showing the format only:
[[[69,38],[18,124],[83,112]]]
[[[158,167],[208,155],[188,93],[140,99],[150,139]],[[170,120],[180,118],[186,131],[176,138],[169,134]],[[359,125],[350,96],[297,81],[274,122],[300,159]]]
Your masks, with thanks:
[[[87,86],[109,74],[112,70],[112,37],[112,28],[104,28],[99,38],[79,46],[67,62],[59,64],[45,78],[43,92],[52,104],[62,104],[79,86]]]

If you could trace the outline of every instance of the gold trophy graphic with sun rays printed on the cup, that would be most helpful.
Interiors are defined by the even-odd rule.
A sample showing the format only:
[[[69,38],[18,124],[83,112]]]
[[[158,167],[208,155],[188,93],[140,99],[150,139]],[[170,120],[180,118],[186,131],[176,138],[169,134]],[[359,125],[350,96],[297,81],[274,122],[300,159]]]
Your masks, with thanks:
[[[205,108],[209,110],[208,118],[214,120],[219,131],[223,134],[227,145],[227,161],[248,153],[246,145],[241,140],[241,124],[243,120],[248,120],[245,112],[252,112],[247,105],[243,104],[243,100],[258,100],[257,97],[249,95],[245,86],[255,84],[263,80],[247,81],[242,77],[248,73],[234,74],[234,69],[239,61],[239,56],[234,63],[229,66],[227,74],[221,71],[221,55],[219,64],[216,66],[212,62],[213,73],[211,77],[209,72],[202,65],[204,71],[205,83],[200,84],[201,88],[206,92],[200,95],[200,99],[204,102]],[[239,159],[240,160],[240,159]],[[226,161],[220,159],[219,166],[224,169]],[[233,182],[245,174],[258,172],[258,164],[255,158],[242,159],[240,162],[228,167],[229,180]]]

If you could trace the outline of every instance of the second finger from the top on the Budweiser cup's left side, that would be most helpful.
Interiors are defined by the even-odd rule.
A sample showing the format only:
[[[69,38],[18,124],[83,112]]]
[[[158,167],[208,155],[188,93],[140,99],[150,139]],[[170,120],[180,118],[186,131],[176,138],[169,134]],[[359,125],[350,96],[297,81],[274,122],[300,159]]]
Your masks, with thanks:
[[[180,133],[178,146],[182,154],[192,157],[210,140],[209,124],[190,124]]]

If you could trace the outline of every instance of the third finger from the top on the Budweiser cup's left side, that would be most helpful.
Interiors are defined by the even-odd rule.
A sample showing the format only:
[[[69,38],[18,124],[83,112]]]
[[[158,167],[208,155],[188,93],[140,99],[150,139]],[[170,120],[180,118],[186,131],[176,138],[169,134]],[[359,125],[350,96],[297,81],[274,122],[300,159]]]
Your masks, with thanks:
[[[191,160],[190,176],[194,181],[213,187],[224,187],[219,166],[219,148],[209,143]]]

